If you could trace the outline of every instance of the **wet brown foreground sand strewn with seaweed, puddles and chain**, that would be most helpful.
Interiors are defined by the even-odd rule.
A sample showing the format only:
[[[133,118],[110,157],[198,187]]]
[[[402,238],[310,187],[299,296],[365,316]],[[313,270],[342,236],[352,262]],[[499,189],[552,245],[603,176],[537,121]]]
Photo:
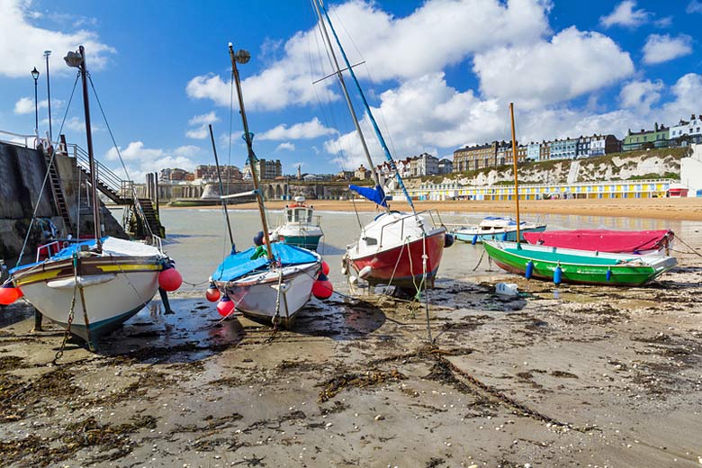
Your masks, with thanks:
[[[644,288],[554,290],[494,266],[442,279],[433,344],[422,305],[386,296],[313,300],[274,335],[176,293],[175,315],[152,302],[98,353],[68,344],[52,365],[61,330],[31,334],[14,305],[0,311],[0,459],[700,466],[702,262],[679,263]],[[500,281],[524,296],[495,295]]]

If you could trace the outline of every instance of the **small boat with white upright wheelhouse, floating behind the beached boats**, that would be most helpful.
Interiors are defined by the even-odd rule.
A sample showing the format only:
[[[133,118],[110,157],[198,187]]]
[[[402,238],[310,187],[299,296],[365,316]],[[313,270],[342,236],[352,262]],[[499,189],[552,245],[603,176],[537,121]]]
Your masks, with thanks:
[[[317,250],[324,232],[320,228],[320,216],[305,203],[305,197],[296,196],[293,203],[285,205],[283,220],[271,233],[271,239],[290,246]]]

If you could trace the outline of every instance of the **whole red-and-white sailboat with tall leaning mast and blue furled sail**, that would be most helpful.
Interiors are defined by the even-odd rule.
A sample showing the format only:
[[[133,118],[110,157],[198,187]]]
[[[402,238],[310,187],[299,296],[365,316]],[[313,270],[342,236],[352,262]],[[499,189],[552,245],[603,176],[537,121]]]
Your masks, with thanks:
[[[373,110],[368,104],[363,89],[356,77],[354,68],[348,61],[346,51],[341,45],[338,34],[331,23],[329,14],[320,0],[314,0],[315,12],[320,21],[320,31],[324,36],[329,57],[335,67],[333,75],[338,78],[339,85],[346,98],[348,111],[354,121],[356,134],[364,150],[369,167],[374,167],[373,158],[368,150],[365,136],[358,122],[356,110],[349,96],[347,85],[342,75],[342,69],[337,59],[337,50],[346,65],[346,70],[356,85],[356,91],[364,104],[365,115],[371,122],[375,136],[392,172],[401,188],[408,204],[410,213],[391,211],[388,198],[383,191],[383,185],[377,171],[373,170],[375,187],[362,187],[350,185],[349,189],[360,194],[366,199],[376,203],[383,212],[373,221],[361,228],[361,234],[353,244],[347,246],[343,258],[344,270],[350,272],[349,266],[356,270],[358,277],[365,279],[370,285],[389,284],[400,288],[407,288],[415,292],[433,287],[437,269],[441,263],[443,248],[453,244],[453,236],[447,233],[446,227],[437,211],[415,210],[414,203],[402,182],[400,171],[395,166],[390,149],[383,139],[383,134],[375,121]],[[332,44],[329,31],[334,37],[336,47]]]

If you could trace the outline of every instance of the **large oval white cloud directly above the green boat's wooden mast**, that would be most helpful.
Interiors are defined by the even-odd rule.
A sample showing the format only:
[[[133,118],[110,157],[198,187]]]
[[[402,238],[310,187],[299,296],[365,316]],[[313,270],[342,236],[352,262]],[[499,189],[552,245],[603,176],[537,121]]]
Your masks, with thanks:
[[[492,49],[473,63],[484,94],[528,108],[572,99],[634,73],[629,54],[614,40],[575,27],[550,41]]]

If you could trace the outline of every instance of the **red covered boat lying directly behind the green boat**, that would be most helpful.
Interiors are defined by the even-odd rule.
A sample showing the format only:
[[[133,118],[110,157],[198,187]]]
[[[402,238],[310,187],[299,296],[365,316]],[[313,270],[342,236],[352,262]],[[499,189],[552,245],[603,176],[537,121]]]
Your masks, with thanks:
[[[675,234],[668,229],[573,229],[527,232],[523,237],[529,244],[538,246],[598,250],[615,254],[666,255]]]

